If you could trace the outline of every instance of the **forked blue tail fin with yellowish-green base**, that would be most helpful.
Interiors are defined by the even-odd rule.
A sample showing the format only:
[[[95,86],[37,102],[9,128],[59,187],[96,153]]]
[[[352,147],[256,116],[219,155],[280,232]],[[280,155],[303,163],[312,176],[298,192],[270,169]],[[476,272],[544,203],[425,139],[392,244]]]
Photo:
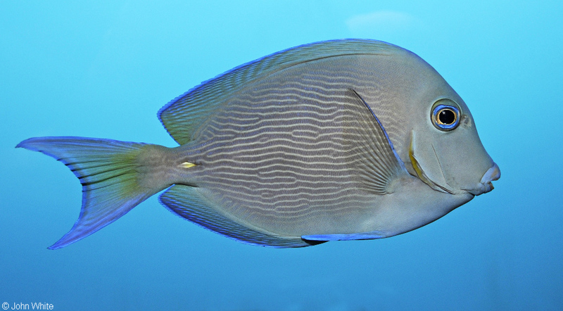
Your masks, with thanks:
[[[162,146],[84,137],[34,137],[16,148],[56,158],[82,184],[82,210],[77,222],[49,249],[84,239],[170,186],[162,178],[151,179],[154,170],[149,166],[162,158]]]

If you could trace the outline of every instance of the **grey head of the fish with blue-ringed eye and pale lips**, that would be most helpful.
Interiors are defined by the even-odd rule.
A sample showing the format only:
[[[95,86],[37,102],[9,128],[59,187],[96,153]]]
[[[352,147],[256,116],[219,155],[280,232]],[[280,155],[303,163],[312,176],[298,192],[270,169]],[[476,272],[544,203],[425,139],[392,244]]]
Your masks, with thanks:
[[[413,110],[407,169],[437,191],[479,196],[493,190],[500,169],[481,144],[469,108],[443,78],[437,81]]]

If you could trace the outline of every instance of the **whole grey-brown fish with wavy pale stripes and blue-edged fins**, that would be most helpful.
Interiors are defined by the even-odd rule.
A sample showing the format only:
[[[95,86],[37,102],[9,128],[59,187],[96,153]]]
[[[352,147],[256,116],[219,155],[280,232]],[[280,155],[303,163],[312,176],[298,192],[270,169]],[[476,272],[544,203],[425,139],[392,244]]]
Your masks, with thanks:
[[[491,191],[500,170],[469,108],[398,46],[337,40],[241,65],[160,109],[176,148],[80,137],[18,146],[63,161],[83,204],[51,248],[94,233],[167,189],[173,213],[272,247],[379,239]]]

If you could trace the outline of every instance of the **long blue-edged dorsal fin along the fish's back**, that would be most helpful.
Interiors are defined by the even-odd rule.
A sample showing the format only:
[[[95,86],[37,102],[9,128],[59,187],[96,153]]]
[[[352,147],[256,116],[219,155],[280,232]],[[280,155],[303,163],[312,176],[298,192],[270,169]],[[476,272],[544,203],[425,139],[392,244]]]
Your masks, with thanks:
[[[198,127],[236,91],[279,70],[322,58],[350,55],[382,55],[404,51],[375,40],[333,40],[296,46],[259,58],[205,81],[167,103],[158,118],[178,144],[197,136]]]

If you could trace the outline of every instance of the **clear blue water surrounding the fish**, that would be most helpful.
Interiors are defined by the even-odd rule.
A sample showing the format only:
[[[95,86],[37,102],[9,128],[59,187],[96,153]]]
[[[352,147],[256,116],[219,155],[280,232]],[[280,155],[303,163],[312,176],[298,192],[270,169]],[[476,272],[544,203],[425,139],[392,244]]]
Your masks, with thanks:
[[[78,3],[77,3],[78,2]],[[562,1],[2,1],[0,303],[55,310],[562,310]],[[83,136],[175,146],[158,109],[291,46],[414,51],[472,111],[495,190],[377,241],[246,246],[156,196],[87,239],[81,187],[14,146]]]

